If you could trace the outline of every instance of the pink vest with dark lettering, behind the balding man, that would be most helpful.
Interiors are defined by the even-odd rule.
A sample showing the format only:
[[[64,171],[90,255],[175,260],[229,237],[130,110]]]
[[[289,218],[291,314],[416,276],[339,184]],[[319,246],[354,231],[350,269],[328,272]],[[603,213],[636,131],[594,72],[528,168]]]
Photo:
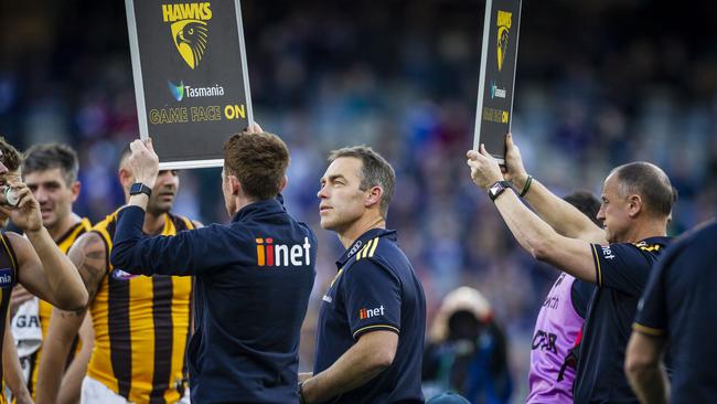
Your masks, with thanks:
[[[526,403],[572,403],[575,369],[564,364],[585,322],[572,306],[574,281],[572,276],[563,273],[538,313],[531,347],[531,391]]]

